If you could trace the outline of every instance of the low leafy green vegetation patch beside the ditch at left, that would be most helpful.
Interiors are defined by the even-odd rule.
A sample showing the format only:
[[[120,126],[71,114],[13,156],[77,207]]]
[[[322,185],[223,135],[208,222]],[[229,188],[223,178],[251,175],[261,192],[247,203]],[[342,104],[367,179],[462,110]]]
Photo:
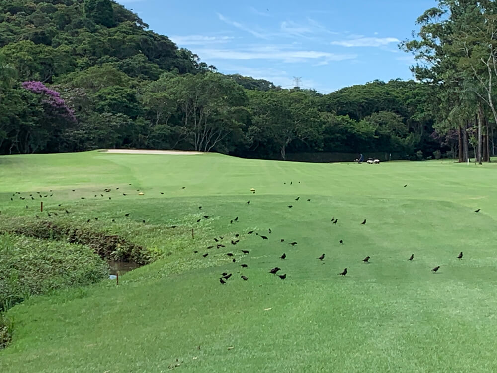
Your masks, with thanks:
[[[98,282],[108,264],[84,245],[0,235],[0,311],[32,295]]]

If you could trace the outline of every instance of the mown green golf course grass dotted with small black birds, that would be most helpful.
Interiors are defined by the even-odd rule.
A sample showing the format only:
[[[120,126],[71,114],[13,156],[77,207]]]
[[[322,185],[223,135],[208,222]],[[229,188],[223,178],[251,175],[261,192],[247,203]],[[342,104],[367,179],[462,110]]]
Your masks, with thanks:
[[[46,211],[71,212],[58,219],[163,253],[118,287],[106,280],[10,309],[0,372],[162,372],[176,359],[178,372],[495,372],[496,171],[215,154],[0,157],[0,219],[35,219],[40,198],[11,202],[12,193],[52,189]],[[99,196],[105,187],[112,200]],[[227,247],[205,249],[216,236]],[[274,266],[288,277],[269,274]],[[224,286],[223,271],[233,273]]]

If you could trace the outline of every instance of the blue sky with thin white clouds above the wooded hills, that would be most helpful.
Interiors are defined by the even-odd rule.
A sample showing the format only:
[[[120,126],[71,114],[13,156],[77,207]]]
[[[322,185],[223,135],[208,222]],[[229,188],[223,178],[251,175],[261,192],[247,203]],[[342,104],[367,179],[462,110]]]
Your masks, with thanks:
[[[434,0],[178,1],[118,0],[179,47],[226,74],[293,77],[322,93],[374,79],[411,79],[416,18]]]

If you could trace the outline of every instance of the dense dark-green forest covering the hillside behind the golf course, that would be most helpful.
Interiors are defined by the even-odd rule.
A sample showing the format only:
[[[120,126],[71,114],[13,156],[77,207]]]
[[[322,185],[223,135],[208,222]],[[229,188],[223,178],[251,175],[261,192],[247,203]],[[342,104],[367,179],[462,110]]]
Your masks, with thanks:
[[[223,75],[111,0],[0,0],[0,154],[140,148],[490,161],[497,4],[437,2],[399,45],[417,61],[415,80],[325,95]]]

